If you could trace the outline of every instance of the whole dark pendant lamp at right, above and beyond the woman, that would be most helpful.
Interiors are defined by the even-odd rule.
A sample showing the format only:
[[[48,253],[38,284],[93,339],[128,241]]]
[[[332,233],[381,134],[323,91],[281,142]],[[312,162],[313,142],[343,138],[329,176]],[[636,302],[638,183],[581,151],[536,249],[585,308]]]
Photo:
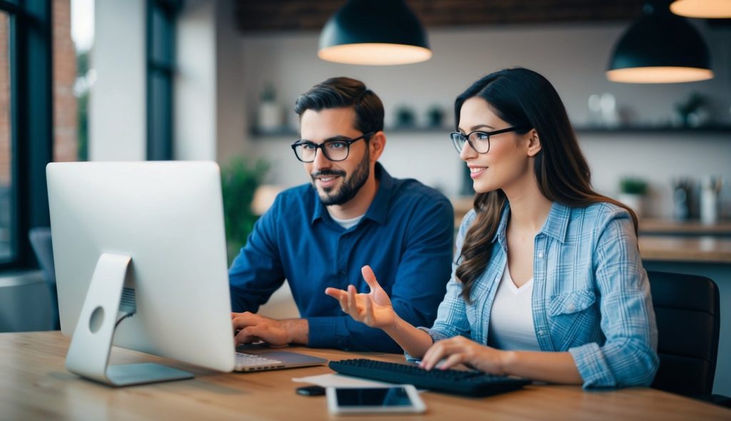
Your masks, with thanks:
[[[667,1],[643,5],[643,15],[615,45],[607,78],[624,83],[678,83],[713,77],[711,57],[698,31],[673,15]]]

